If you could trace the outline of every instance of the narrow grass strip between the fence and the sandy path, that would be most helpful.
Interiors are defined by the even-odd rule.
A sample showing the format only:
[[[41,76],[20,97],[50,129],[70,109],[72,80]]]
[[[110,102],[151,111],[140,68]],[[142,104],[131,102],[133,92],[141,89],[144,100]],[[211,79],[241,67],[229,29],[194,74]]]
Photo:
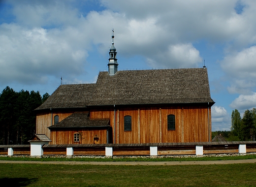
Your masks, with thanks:
[[[205,157],[169,157],[169,158],[89,158],[89,157],[15,157],[15,156],[0,156],[0,160],[18,160],[18,161],[207,161],[207,160],[238,160],[238,159],[256,159],[256,155],[245,156],[205,156]]]

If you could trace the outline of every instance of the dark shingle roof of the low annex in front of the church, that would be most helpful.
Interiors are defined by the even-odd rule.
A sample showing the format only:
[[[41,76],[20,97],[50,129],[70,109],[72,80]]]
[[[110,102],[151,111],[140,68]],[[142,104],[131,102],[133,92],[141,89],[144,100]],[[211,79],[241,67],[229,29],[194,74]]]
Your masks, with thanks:
[[[90,119],[88,112],[75,112],[65,118],[56,125],[49,126],[49,129],[54,128],[87,128],[87,127],[108,127],[109,119]]]

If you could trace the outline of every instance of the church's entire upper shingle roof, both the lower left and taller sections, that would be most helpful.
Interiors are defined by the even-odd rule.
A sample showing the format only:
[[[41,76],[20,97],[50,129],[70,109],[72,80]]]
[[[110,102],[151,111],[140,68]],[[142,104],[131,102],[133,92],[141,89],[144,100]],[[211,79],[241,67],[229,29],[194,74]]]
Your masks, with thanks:
[[[61,85],[36,110],[102,105],[211,103],[207,69],[99,72],[96,84]]]

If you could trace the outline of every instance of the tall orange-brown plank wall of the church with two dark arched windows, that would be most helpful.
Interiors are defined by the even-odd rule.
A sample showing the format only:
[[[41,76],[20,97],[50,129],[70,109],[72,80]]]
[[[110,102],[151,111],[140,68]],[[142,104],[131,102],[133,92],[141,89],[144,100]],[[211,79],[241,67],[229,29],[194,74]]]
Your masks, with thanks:
[[[175,130],[167,129],[167,116],[175,115]],[[205,106],[114,107],[90,111],[92,119],[110,118],[117,144],[211,141],[211,109]],[[124,130],[124,117],[131,116],[132,130]]]

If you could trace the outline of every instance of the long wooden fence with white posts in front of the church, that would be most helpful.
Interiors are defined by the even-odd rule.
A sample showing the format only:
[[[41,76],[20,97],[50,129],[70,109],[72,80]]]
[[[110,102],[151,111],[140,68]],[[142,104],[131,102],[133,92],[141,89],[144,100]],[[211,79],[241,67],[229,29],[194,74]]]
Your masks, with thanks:
[[[151,144],[0,145],[0,155],[170,156],[256,153],[256,141]]]

